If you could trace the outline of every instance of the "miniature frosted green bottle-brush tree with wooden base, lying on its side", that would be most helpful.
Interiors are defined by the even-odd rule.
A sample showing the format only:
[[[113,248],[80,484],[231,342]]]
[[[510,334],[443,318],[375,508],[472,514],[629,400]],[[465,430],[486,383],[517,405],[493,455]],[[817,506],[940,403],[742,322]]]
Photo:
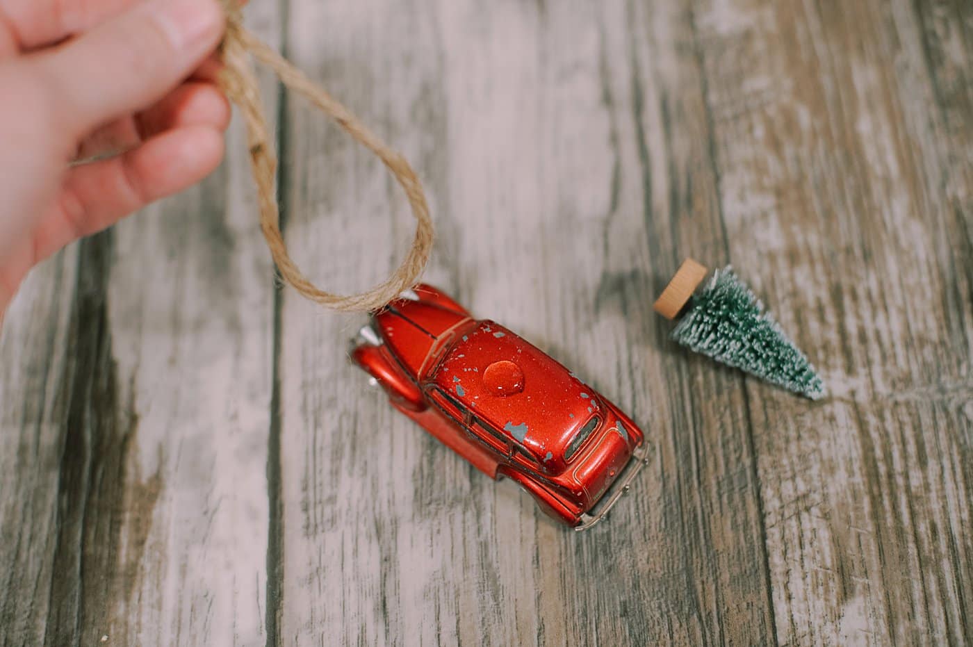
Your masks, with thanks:
[[[699,294],[692,294],[705,273],[703,266],[686,261],[656,302],[667,318],[682,313],[672,339],[811,400],[823,397],[824,383],[811,362],[733,270],[717,270]]]

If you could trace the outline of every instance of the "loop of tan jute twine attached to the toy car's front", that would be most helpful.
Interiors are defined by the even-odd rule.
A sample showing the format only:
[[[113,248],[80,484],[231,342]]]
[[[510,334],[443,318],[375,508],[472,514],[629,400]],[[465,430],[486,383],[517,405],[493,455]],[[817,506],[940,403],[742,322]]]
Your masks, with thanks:
[[[250,166],[257,184],[260,205],[260,226],[267,238],[270,254],[281,277],[307,299],[343,311],[376,310],[395,299],[403,290],[411,288],[425,269],[432,251],[433,226],[429,217],[422,184],[405,159],[386,146],[341,103],[316,86],[306,75],[270,49],[257,36],[243,27],[242,15],[234,0],[221,0],[227,15],[227,31],[222,45],[225,68],[220,86],[240,109],[246,123],[250,146]],[[402,265],[387,280],[368,292],[342,296],[325,292],[311,283],[287,253],[287,245],[280,234],[280,214],[274,194],[277,160],[264,117],[263,104],[257,85],[257,75],[248,54],[272,69],[281,83],[305,96],[312,105],[336,122],[351,137],[375,153],[402,186],[409,198],[416,221],[412,248]]]

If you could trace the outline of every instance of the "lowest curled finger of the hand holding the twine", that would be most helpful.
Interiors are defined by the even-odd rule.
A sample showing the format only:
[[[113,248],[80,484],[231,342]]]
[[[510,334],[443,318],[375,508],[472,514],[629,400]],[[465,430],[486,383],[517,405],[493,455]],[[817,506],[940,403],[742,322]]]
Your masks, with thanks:
[[[35,263],[81,236],[106,227],[160,198],[190,187],[223,159],[223,134],[184,126],[111,160],[69,171],[60,198],[35,230]]]

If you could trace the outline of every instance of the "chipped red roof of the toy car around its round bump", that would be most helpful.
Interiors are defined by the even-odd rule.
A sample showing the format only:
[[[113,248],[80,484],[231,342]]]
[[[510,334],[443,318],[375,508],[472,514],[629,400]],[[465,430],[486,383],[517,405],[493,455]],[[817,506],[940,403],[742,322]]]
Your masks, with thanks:
[[[527,449],[549,471],[562,469],[567,444],[599,411],[595,390],[493,321],[478,321],[462,332],[428,380]],[[498,395],[495,384],[487,384],[486,369],[496,362],[516,365],[523,391]]]

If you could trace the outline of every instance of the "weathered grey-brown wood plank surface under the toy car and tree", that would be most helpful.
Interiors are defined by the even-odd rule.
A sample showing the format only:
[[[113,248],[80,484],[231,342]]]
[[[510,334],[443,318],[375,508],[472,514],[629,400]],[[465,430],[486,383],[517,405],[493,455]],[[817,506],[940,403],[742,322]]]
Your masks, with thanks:
[[[240,131],[202,187],[35,270],[0,341],[0,645],[973,642],[973,3],[254,0],[412,162],[431,282],[634,412],[610,522],[547,521],[275,285]],[[265,78],[291,253],[345,292],[412,231]],[[733,263],[811,403],[667,340]]]

